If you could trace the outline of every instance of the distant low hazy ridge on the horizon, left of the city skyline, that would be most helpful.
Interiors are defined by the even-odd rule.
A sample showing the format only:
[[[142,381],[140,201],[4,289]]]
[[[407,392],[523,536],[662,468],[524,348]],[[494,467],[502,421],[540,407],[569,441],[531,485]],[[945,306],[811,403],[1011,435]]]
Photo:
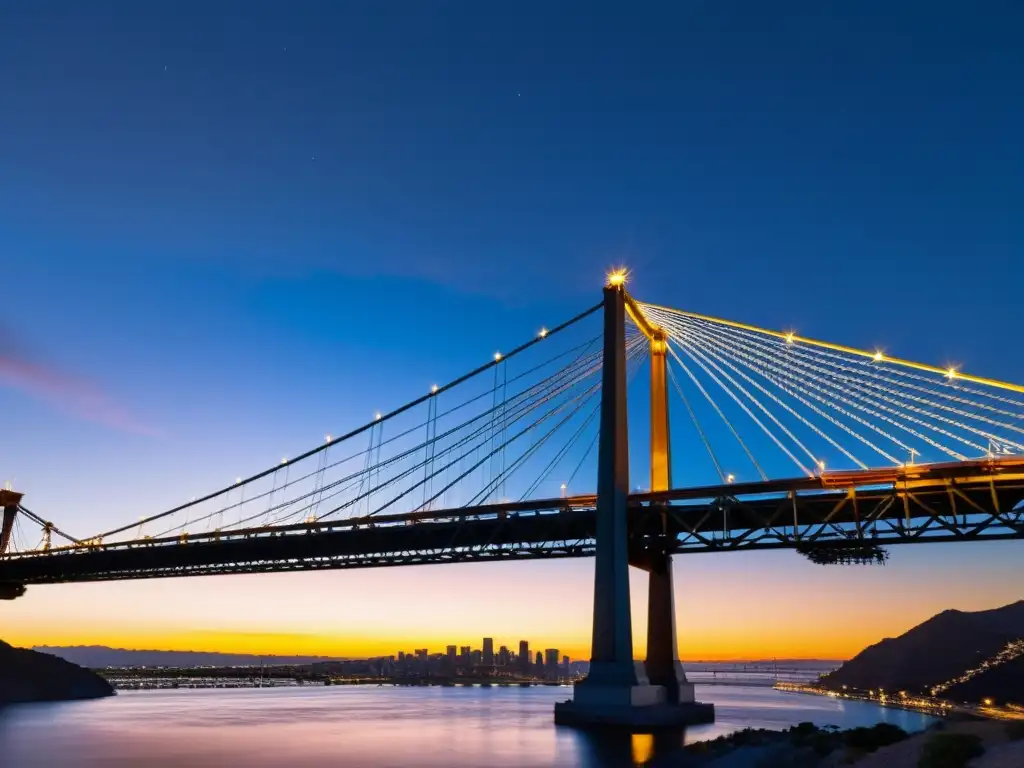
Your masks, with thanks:
[[[305,665],[344,660],[329,656],[258,656],[248,653],[207,653],[190,650],[127,650],[108,648],[104,645],[67,647],[37,645],[33,650],[50,653],[93,670],[105,667],[259,667],[260,664]]]

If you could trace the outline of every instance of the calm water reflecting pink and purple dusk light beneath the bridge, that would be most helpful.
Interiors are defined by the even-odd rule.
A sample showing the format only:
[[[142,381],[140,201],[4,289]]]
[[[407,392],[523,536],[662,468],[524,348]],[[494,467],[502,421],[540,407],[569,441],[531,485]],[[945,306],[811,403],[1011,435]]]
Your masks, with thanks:
[[[697,686],[717,722],[672,737],[587,736],[552,722],[564,688],[377,688],[128,691],[114,698],[11,708],[0,714],[0,765],[508,766],[658,765],[691,742],[809,720],[843,728],[923,715],[771,688]]]

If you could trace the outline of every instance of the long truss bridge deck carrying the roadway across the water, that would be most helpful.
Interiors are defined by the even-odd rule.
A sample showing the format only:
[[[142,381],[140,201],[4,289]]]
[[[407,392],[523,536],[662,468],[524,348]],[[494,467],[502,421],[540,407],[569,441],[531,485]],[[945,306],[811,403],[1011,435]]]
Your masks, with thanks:
[[[83,544],[0,558],[24,585],[594,554],[595,497]],[[1024,459],[985,460],[630,497],[631,562],[677,554],[1024,538]]]

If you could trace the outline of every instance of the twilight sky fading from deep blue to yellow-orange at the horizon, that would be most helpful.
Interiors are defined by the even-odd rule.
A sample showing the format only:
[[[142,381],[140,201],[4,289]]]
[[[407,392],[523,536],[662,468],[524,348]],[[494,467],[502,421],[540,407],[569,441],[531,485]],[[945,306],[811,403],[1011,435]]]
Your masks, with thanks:
[[[72,530],[158,511],[577,313],[618,263],[648,301],[1024,381],[1024,6],[838,5],[5,3],[0,479]],[[1024,597],[1020,557],[681,558],[682,653],[844,656]],[[42,587],[0,635],[586,657],[591,574]]]

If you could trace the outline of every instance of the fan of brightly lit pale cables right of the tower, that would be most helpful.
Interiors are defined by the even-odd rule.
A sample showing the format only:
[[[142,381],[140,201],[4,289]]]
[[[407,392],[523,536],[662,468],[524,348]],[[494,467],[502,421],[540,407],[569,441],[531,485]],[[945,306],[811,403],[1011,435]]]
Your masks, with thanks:
[[[723,482],[1024,453],[1021,388],[837,344],[640,303]],[[710,433],[716,440],[708,439]]]

